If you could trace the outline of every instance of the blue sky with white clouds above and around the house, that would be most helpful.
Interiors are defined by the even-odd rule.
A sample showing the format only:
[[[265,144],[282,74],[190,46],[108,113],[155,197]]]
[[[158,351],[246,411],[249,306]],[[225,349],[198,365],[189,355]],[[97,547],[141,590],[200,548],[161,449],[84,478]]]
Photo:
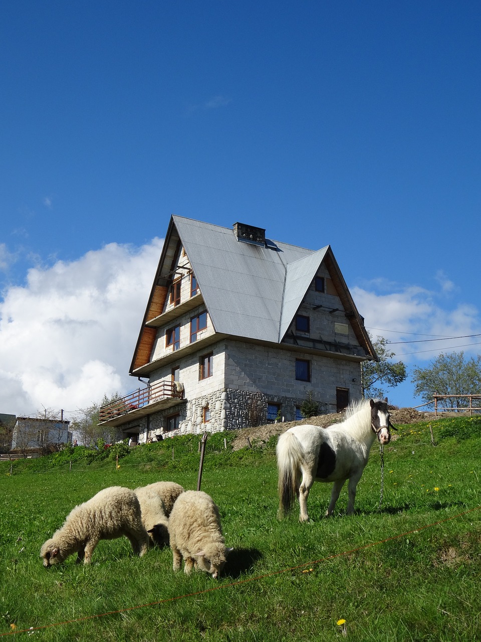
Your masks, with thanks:
[[[330,244],[410,371],[478,354],[480,23],[470,1],[4,3],[0,412],[136,387],[173,213]]]

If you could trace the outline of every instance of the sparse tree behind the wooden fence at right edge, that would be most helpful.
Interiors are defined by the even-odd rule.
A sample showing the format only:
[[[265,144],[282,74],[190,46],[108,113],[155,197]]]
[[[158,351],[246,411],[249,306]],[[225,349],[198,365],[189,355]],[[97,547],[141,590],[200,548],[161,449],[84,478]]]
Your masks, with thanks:
[[[412,371],[414,394],[423,401],[432,401],[433,395],[481,394],[481,356],[464,359],[464,352],[439,354],[428,368]],[[443,408],[465,408],[469,399],[439,399]]]

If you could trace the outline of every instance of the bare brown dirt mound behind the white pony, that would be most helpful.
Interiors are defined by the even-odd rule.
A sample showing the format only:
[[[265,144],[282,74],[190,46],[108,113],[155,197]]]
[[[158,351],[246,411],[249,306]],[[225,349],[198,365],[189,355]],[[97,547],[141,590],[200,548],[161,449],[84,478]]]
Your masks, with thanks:
[[[389,412],[391,412],[391,422],[394,426],[396,426],[396,424],[416,424],[419,421],[435,418],[434,413],[418,412],[418,410],[414,410],[414,408],[389,408]],[[233,440],[232,448],[233,450],[239,450],[240,448],[249,446],[249,442],[251,444],[267,442],[273,435],[280,435],[280,433],[292,428],[292,426],[301,426],[301,424],[311,424],[312,426],[327,428],[341,421],[343,416],[341,413],[332,413],[330,415],[309,417],[309,419],[303,419],[302,421],[285,421],[278,424],[243,428],[238,431],[239,435]]]

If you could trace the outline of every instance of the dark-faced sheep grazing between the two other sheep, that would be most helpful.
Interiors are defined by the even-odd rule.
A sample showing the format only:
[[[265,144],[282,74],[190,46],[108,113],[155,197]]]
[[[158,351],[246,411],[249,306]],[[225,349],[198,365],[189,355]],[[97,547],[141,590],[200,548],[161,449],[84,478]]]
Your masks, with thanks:
[[[152,546],[168,546],[167,523],[174,501],[183,492],[175,482],[155,482],[135,489],[142,511],[142,524],[149,534]]]

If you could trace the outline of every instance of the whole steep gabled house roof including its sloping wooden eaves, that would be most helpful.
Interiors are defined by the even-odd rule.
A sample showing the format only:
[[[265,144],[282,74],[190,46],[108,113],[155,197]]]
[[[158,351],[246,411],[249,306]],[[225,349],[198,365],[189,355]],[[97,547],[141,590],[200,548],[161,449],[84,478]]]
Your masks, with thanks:
[[[321,263],[326,261],[360,345],[366,349],[368,358],[376,359],[362,318],[329,245],[314,251],[271,239],[262,244],[243,242],[232,228],[173,215],[131,373],[136,369],[142,337],[147,336],[145,331],[149,328],[145,326],[152,318],[149,310],[153,307],[156,288],[168,288],[171,284],[181,247],[196,275],[215,332],[273,343],[282,341],[312,279]]]

